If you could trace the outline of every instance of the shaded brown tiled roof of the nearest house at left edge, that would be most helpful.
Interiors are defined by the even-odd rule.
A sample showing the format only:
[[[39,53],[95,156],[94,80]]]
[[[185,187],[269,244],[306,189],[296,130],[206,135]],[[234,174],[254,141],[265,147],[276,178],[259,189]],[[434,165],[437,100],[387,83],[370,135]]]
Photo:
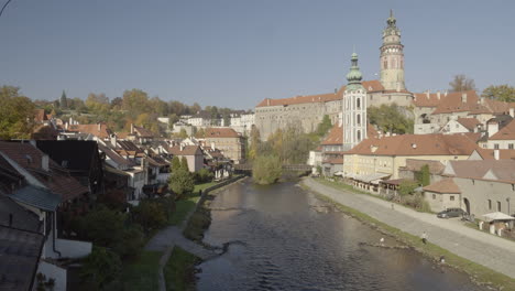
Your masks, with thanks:
[[[43,170],[42,157],[45,154],[30,143],[0,141],[0,152],[28,170],[52,192],[61,195],[63,201],[73,200],[89,192],[87,187],[72,177],[68,171],[51,159],[48,159],[50,171]]]

